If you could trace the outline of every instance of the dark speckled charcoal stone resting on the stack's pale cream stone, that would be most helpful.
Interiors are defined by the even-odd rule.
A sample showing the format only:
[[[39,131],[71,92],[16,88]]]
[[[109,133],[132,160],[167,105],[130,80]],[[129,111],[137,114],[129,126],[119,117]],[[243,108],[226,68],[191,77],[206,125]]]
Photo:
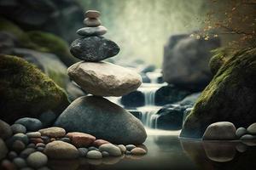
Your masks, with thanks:
[[[93,27],[88,27],[92,29]],[[72,42],[70,52],[78,59],[100,61],[119,53],[119,46],[105,37],[80,37]]]

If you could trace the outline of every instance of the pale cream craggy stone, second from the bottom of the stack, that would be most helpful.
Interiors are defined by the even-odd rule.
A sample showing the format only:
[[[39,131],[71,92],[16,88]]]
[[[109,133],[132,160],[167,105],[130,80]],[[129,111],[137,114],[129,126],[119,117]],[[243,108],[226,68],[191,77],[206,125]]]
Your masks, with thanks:
[[[79,62],[67,72],[84,91],[96,96],[122,96],[135,91],[142,83],[136,71],[103,61]]]

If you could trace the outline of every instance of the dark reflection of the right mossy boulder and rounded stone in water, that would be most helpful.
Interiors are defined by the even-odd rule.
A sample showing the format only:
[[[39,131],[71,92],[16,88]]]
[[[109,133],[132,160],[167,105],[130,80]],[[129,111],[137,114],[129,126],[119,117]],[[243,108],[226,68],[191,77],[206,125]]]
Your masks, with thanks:
[[[181,139],[183,150],[200,169],[255,169],[256,141],[195,141]]]

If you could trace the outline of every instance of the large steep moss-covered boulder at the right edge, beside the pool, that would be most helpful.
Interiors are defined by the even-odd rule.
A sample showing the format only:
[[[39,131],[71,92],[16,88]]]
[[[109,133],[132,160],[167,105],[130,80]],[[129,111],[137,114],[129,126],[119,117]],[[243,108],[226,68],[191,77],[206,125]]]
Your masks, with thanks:
[[[256,122],[256,48],[234,54],[202,92],[184,123],[182,137],[201,138],[213,122],[247,127]]]

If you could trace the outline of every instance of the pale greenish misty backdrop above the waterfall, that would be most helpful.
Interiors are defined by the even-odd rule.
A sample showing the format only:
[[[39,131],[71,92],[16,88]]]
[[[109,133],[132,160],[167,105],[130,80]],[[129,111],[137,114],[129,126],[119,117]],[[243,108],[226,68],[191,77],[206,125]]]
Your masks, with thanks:
[[[161,66],[168,37],[201,28],[207,13],[202,0],[79,0],[84,11],[101,12],[104,35],[121,48],[114,59],[143,59]],[[81,20],[82,22],[82,20]]]

